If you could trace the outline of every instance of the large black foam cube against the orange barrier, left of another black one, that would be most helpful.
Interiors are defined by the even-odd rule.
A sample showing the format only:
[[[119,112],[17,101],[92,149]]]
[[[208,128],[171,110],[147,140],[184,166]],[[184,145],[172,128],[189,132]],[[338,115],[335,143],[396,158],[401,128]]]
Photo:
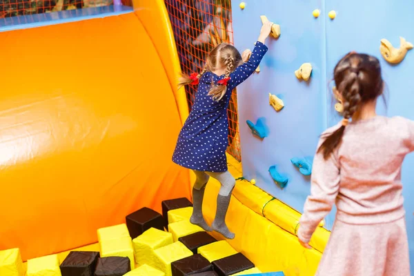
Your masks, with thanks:
[[[164,230],[164,219],[155,210],[144,207],[126,216],[126,226],[132,239],[135,239],[151,227]]]

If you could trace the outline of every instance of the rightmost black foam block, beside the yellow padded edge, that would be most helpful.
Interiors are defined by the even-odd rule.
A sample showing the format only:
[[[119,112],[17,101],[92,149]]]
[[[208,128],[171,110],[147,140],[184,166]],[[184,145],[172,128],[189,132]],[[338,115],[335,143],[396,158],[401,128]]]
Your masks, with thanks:
[[[242,253],[217,259],[212,264],[219,276],[229,276],[255,267],[255,264],[250,262]]]

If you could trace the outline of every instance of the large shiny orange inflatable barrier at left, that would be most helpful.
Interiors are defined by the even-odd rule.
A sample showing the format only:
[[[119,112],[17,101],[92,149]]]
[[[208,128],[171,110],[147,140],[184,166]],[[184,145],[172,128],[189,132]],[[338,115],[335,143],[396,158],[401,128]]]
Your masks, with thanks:
[[[142,206],[190,197],[181,119],[137,14],[0,33],[0,250],[97,241]]]

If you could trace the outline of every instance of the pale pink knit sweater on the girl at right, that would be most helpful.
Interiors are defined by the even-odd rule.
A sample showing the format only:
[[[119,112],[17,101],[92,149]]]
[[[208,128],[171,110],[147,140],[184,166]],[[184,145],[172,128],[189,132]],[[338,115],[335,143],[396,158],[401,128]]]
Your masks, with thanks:
[[[342,144],[329,159],[315,155],[299,239],[309,242],[334,203],[336,219],[347,224],[380,224],[404,217],[401,165],[413,150],[414,121],[403,117],[377,116],[346,126]]]

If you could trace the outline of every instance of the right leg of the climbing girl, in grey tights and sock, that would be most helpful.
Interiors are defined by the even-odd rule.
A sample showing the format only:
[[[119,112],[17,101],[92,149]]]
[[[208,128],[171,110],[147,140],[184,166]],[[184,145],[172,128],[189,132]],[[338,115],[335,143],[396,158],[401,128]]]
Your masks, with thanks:
[[[234,239],[235,234],[231,233],[226,226],[226,213],[228,205],[230,204],[231,193],[235,187],[236,180],[230,172],[207,172],[210,177],[217,179],[221,188],[217,196],[217,213],[213,221],[213,230],[216,230],[221,235],[228,239]]]

